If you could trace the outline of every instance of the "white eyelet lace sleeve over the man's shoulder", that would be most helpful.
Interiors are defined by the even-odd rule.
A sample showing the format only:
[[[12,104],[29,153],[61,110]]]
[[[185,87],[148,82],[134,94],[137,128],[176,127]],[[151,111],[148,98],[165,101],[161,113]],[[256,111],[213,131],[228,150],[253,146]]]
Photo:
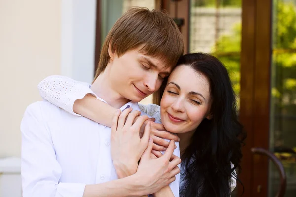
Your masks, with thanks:
[[[73,111],[74,102],[89,93],[95,96],[89,84],[58,75],[43,79],[38,89],[43,99],[76,116],[81,115]]]

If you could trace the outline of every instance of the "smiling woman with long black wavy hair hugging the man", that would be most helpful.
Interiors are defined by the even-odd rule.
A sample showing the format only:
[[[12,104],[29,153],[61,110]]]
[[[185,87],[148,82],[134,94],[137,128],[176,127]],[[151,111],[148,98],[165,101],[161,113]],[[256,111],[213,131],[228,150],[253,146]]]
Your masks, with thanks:
[[[77,91],[88,93],[88,85],[75,83],[72,85],[75,91],[50,93],[48,83],[59,82],[49,80],[39,84],[44,99],[70,113],[77,112],[111,126],[116,109],[110,111],[111,106],[90,95],[73,96]],[[160,118],[164,128],[180,138],[180,196],[229,197],[236,186],[235,169],[240,170],[245,133],[238,122],[236,99],[226,68],[211,55],[186,54],[179,59],[160,91],[160,106],[141,105],[140,108],[156,119]],[[110,114],[100,115],[98,112],[102,110]],[[161,141],[159,136],[153,137]],[[155,149],[162,150],[161,147]],[[169,194],[167,188],[159,192]]]

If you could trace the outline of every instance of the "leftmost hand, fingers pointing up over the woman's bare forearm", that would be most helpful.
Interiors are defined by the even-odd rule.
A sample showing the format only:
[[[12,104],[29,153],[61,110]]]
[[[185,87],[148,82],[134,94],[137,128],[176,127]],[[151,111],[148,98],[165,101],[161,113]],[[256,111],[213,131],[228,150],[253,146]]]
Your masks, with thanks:
[[[131,110],[118,110],[111,127],[111,156],[118,178],[136,173],[138,161],[149,141],[150,123],[146,124],[143,137],[140,138],[139,135],[140,128],[148,120],[148,116],[140,116],[134,122],[141,112]]]

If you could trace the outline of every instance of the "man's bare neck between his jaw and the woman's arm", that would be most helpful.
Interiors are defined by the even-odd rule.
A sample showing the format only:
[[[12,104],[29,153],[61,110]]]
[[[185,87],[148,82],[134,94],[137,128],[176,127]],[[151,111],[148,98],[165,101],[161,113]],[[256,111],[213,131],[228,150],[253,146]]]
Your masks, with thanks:
[[[130,100],[121,96],[111,86],[110,78],[108,77],[108,69],[106,68],[91,86],[91,90],[101,99],[104,99],[110,106],[120,108]]]

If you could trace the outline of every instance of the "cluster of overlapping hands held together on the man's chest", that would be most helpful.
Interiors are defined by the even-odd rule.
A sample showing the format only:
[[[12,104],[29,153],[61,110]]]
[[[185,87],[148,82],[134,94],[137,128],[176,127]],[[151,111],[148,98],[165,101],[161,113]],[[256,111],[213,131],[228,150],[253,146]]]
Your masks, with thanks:
[[[177,165],[181,159],[173,155],[178,137],[140,115],[131,108],[116,112],[111,127],[111,156],[118,178],[135,174],[151,194],[173,182],[180,172]]]

